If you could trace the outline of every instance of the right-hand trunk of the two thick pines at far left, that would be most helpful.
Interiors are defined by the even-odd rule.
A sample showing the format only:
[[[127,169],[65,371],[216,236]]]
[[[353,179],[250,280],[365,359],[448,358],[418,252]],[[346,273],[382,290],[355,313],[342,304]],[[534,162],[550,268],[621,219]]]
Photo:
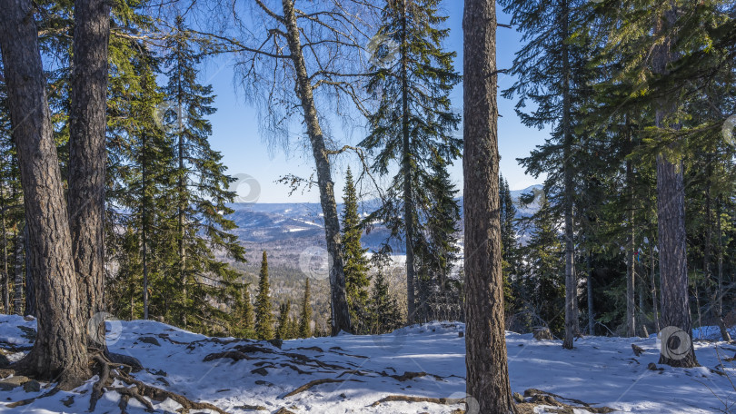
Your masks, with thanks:
[[[105,0],[75,0],[67,198],[79,305],[85,320],[92,320],[95,313],[104,311],[105,113],[110,5]],[[98,332],[90,332],[90,339],[94,340],[91,344],[104,347],[104,323],[96,329]]]

